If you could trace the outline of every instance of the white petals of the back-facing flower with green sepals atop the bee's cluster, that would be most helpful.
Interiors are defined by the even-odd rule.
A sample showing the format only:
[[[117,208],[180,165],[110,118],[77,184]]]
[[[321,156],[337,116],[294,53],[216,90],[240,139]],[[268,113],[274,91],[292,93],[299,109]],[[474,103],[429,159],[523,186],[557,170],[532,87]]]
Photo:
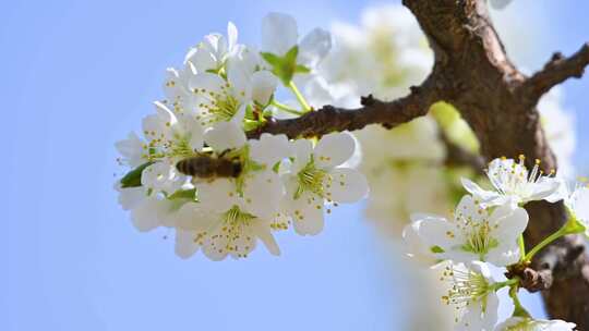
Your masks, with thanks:
[[[263,19],[261,51],[283,57],[297,45],[297,63],[314,69],[332,48],[332,37],[328,32],[315,28],[299,42],[297,21],[292,16],[269,13]]]

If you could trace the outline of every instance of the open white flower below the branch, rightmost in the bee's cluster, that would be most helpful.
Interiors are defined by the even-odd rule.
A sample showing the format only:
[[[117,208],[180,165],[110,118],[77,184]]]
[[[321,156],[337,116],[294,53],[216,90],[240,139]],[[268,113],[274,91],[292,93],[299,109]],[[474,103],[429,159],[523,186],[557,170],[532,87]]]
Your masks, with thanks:
[[[325,135],[314,149],[310,140],[299,139],[293,148],[291,171],[283,176],[287,188],[284,209],[299,234],[317,234],[323,229],[325,201],[358,201],[368,194],[368,183],[357,170],[338,167],[354,151],[349,133]]]

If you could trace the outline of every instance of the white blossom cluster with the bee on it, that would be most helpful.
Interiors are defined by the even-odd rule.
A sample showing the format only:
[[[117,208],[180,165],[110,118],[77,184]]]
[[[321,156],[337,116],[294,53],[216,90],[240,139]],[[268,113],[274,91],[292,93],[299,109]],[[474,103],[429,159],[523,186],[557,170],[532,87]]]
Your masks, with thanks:
[[[299,40],[292,17],[271,13],[260,49],[239,44],[229,23],[227,36],[205,36],[181,68],[168,69],[165,99],[143,119],[143,134],[117,143],[130,171],[116,188],[136,229],[173,229],[183,258],[199,249],[212,260],[242,258],[257,241],[278,255],[275,231],[317,234],[332,207],[364,197],[364,176],[345,167],[356,149],[349,133],[247,138],[277,109],[314,111],[301,89],[313,91],[330,42],[320,28]],[[298,103],[278,102],[279,88]]]

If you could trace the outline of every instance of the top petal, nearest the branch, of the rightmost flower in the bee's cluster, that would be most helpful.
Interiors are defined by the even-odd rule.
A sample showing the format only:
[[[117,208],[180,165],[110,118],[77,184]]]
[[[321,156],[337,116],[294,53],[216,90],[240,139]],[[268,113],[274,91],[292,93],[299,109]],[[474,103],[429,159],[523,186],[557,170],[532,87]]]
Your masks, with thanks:
[[[330,133],[318,140],[313,155],[321,168],[335,168],[352,157],[356,142],[348,132]]]

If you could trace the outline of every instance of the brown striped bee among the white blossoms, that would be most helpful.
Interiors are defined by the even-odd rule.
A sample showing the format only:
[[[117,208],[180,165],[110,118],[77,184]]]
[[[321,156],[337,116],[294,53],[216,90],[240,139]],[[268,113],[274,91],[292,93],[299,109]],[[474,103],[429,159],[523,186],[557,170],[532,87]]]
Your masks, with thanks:
[[[176,169],[185,175],[212,180],[215,177],[238,177],[242,166],[238,158],[226,158],[225,152],[217,156],[199,154],[176,163]]]

